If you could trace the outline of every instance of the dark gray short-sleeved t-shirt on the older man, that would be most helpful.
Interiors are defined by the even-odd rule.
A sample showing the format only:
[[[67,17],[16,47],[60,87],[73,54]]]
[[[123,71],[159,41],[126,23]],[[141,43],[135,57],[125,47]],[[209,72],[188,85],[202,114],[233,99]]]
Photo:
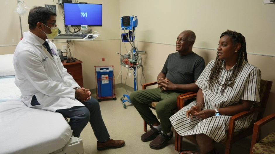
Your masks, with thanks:
[[[204,67],[204,59],[196,53],[183,56],[175,52],[169,54],[161,72],[174,84],[190,84],[199,78]]]

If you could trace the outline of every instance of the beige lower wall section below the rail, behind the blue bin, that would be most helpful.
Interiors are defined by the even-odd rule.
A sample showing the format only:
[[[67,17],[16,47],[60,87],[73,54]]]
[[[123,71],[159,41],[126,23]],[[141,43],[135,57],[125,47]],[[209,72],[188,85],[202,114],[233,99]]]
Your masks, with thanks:
[[[83,82],[85,88],[94,89],[96,87],[95,67],[94,66],[114,66],[115,83],[120,72],[120,40],[94,40],[75,43],[74,56],[83,61]],[[105,61],[102,61],[102,58]],[[120,81],[120,77],[118,78]]]

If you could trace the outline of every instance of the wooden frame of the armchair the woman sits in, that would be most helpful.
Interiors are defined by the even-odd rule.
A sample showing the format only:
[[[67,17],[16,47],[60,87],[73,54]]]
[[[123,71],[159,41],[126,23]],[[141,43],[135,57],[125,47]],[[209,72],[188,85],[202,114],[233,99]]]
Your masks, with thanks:
[[[226,146],[225,152],[224,152],[225,154],[231,153],[231,146],[233,143],[252,134],[253,124],[255,123],[255,121],[252,121],[249,128],[238,132],[234,132],[235,122],[237,120],[254,113],[258,113],[256,121],[259,121],[260,119],[263,118],[263,114],[264,114],[265,107],[267,105],[267,100],[269,97],[271,86],[272,86],[271,81],[261,80],[261,86],[260,86],[261,101],[259,103],[255,103],[253,109],[249,111],[240,112],[230,118],[227,138],[221,142]],[[195,98],[195,97],[196,97],[196,93],[180,97],[177,102],[177,110],[180,110],[184,106],[183,103],[185,100],[188,100],[190,98]],[[182,148],[182,136],[180,136],[177,132],[175,132],[175,150],[180,152],[181,148]]]

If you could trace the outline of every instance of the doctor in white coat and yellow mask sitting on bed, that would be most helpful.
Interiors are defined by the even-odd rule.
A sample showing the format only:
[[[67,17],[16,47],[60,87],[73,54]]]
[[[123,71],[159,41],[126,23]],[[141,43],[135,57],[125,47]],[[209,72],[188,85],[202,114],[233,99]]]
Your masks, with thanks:
[[[58,33],[56,13],[45,7],[29,12],[29,31],[18,43],[13,66],[21,100],[29,107],[55,111],[70,118],[75,137],[90,122],[97,138],[97,149],[119,148],[123,140],[110,139],[99,103],[88,89],[81,88],[60,61],[56,46],[48,39]]]

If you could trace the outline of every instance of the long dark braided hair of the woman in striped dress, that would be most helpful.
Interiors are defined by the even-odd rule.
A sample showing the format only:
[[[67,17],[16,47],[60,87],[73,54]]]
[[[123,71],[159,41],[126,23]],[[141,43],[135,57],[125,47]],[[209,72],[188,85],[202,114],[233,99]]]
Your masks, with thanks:
[[[241,47],[238,51],[238,61],[237,61],[236,65],[233,68],[233,73],[231,74],[230,77],[228,77],[224,81],[224,84],[222,84],[221,95],[224,94],[224,91],[228,86],[233,88],[233,86],[235,84],[235,79],[238,75],[238,72],[241,69],[243,60],[248,61],[247,60],[247,54],[246,54],[245,37],[241,33],[238,33],[236,31],[227,30],[227,31],[225,31],[224,33],[221,34],[220,38],[225,36],[225,35],[230,37],[233,45],[236,45],[236,43],[240,43]],[[219,56],[217,55],[214,67],[211,69],[209,79],[208,79],[208,84],[209,84],[210,87],[212,87],[216,83],[219,83],[219,77],[220,77],[220,72],[221,72],[221,69],[222,69],[223,62],[224,62],[224,60],[220,60]]]

